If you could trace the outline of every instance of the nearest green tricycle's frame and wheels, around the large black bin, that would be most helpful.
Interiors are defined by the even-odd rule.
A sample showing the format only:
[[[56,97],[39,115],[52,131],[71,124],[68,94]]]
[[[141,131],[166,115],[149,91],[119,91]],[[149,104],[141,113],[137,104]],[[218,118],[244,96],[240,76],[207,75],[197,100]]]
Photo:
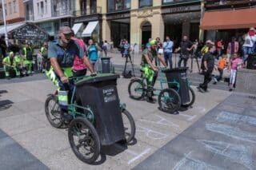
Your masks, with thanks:
[[[98,77],[104,74],[98,75]],[[87,76],[88,77],[88,76]],[[75,82],[81,80],[81,78],[73,78]],[[94,77],[92,77],[94,78]],[[67,114],[72,117],[72,120],[65,121],[62,111],[58,104],[58,93],[48,95],[45,103],[45,112],[50,125],[55,128],[62,128],[63,125],[68,125],[68,139],[70,147],[75,156],[79,160],[87,164],[93,164],[98,159],[101,149],[100,137],[96,128],[96,117],[94,110],[90,105],[82,106],[81,101],[76,97],[76,85],[72,92],[70,104],[68,105]],[[52,106],[52,107],[51,107]],[[126,105],[119,102],[119,109],[122,113],[122,121],[124,125],[124,139],[127,144],[134,140],[135,136],[135,123],[131,114],[126,109]]]

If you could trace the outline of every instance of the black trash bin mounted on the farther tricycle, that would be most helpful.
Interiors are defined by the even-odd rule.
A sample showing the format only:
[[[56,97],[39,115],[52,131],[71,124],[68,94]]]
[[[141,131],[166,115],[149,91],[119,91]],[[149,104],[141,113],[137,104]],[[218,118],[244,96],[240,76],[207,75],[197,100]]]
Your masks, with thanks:
[[[166,79],[168,82],[178,82],[179,87],[179,96],[182,100],[182,105],[190,102],[190,92],[189,92],[189,85],[188,80],[186,77],[186,70],[188,67],[181,67],[175,69],[166,69],[163,72],[166,73]],[[168,84],[169,88],[177,89],[174,84]]]

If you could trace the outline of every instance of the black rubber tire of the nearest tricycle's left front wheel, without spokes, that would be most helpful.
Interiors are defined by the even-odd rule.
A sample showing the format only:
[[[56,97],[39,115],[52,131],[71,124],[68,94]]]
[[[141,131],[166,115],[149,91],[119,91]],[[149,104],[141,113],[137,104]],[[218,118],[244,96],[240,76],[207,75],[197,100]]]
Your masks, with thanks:
[[[96,143],[94,156],[92,156],[90,159],[86,159],[84,156],[82,156],[82,154],[77,150],[77,148],[74,144],[72,128],[74,127],[75,122],[79,122],[81,124],[86,125],[88,128],[90,128],[90,132],[94,138],[94,142]],[[77,156],[79,160],[82,160],[86,164],[93,164],[95,162],[95,160],[98,159],[98,156],[100,154],[101,144],[100,144],[100,140],[98,137],[98,133],[95,130],[94,126],[90,123],[90,121],[87,121],[85,118],[82,118],[82,117],[77,117],[73,121],[71,121],[70,127],[68,129],[68,138],[69,138],[69,142],[70,142],[70,147],[72,148],[74,155]]]

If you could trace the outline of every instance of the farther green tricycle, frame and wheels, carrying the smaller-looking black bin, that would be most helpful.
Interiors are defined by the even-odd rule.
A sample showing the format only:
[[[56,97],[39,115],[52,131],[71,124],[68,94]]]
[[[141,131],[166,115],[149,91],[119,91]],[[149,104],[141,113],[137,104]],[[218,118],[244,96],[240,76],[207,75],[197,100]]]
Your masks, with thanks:
[[[160,89],[153,89],[154,96],[158,96],[158,105],[159,109],[166,113],[174,113],[177,112],[178,109],[183,107],[189,107],[194,104],[195,94],[194,90],[190,87],[191,81],[188,81],[189,85],[189,95],[190,101],[187,103],[182,103],[181,97],[179,95],[180,92],[180,84],[178,81],[165,81],[163,79],[163,71],[166,70],[164,68],[160,68]],[[167,84],[168,88],[164,89],[164,85]],[[149,89],[146,85],[146,77],[142,78],[134,78],[130,81],[128,85],[128,93],[130,98],[134,100],[142,100],[144,97],[147,97]],[[159,92],[159,93],[158,93]]]

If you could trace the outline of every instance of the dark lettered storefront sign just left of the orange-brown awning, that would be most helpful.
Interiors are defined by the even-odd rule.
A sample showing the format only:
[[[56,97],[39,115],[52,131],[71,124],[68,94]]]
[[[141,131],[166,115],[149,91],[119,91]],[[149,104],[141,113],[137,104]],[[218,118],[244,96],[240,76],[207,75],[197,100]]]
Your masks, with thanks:
[[[175,6],[162,9],[162,14],[185,13],[201,10],[201,6]]]

